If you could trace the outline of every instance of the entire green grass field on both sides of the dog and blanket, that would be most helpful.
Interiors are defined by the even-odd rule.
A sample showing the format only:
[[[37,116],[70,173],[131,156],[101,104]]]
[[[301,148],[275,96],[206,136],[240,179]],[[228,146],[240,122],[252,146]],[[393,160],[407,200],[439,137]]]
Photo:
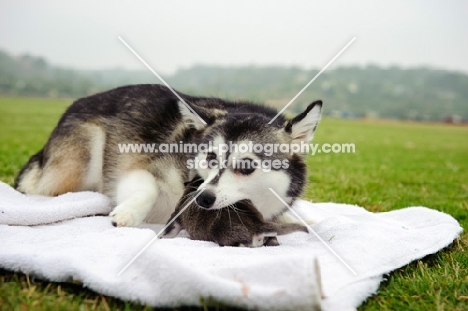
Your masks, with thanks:
[[[70,102],[0,98],[2,181],[13,184],[21,165],[43,146]],[[468,228],[468,127],[325,119],[316,142],[354,143],[356,153],[310,157],[305,198],[357,204],[375,212],[428,206]],[[468,310],[467,250],[465,232],[447,249],[392,273],[360,310]],[[1,310],[150,309],[77,285],[33,281],[4,270],[0,282]]]

